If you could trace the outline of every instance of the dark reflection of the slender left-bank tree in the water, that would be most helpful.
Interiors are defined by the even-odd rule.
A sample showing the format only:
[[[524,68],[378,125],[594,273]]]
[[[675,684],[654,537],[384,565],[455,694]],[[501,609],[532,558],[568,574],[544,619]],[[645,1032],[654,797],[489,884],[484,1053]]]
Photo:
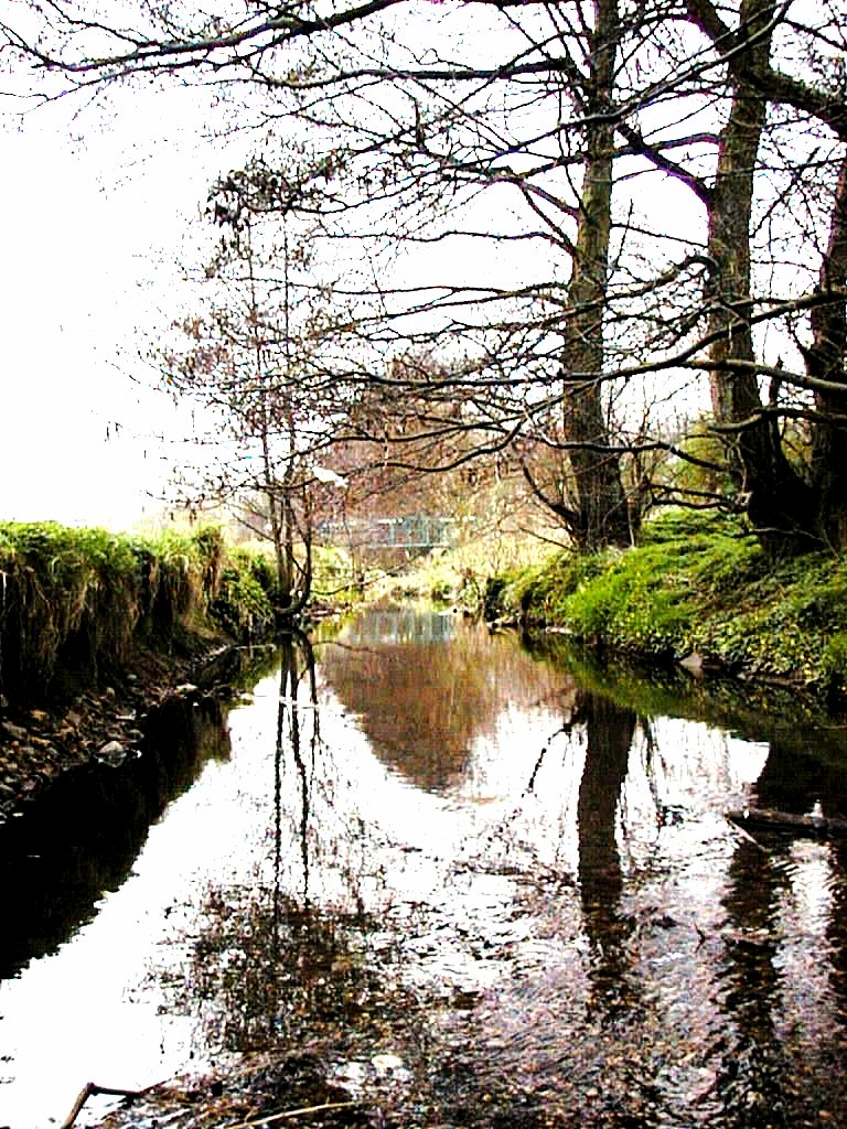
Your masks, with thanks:
[[[323,1030],[355,1025],[372,995],[360,953],[367,922],[359,913],[312,904],[312,789],[321,750],[315,659],[308,638],[280,641],[273,756],[273,872],[270,887],[210,889],[192,954],[186,997],[204,1001],[207,1041],[220,1050],[314,1043]],[[294,771],[299,802],[294,835],[285,826],[283,777]],[[298,843],[297,893],[283,874],[285,848]]]

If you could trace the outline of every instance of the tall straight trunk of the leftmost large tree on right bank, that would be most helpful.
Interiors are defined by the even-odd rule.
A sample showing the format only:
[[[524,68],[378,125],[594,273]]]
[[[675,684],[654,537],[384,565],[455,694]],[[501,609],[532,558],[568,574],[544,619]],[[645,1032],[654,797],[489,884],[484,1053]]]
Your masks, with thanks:
[[[613,129],[604,120],[612,104],[615,56],[620,40],[618,0],[595,0],[591,64],[593,76],[586,98],[585,178],[565,327],[561,376],[565,393],[566,439],[585,444],[570,450],[576,493],[571,534],[585,549],[627,545],[630,528],[619,456],[609,447],[603,405],[605,361],[603,318],[609,275],[612,210]]]

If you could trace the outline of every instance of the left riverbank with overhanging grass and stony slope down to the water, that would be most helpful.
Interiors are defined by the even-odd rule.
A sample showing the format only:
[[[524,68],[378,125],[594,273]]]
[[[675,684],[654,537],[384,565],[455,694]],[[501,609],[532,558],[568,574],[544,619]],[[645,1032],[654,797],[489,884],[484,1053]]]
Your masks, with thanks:
[[[0,523],[0,823],[79,764],[137,755],[151,710],[273,627],[270,567],[216,528]]]

